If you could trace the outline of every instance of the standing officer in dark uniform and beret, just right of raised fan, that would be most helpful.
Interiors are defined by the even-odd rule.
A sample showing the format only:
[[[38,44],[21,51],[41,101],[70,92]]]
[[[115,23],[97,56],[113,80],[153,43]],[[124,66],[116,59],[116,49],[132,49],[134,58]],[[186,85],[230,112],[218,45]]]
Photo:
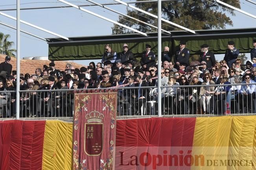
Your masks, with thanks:
[[[208,44],[201,45],[202,54],[200,55],[199,62],[201,63],[202,61],[205,61],[206,62],[206,68],[210,69],[215,64],[216,61],[215,61],[214,53],[208,51],[208,49],[209,49]]]

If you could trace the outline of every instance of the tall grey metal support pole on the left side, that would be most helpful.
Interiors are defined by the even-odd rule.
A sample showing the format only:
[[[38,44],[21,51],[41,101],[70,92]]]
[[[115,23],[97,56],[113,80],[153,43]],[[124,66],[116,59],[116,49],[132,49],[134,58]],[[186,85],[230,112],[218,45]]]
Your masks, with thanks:
[[[16,85],[16,119],[20,119],[20,0],[17,0],[17,85]]]

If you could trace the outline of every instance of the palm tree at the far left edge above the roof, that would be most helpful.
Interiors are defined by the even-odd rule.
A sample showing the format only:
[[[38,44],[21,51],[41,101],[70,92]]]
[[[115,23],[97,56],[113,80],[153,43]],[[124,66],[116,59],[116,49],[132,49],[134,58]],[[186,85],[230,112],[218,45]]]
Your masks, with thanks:
[[[9,42],[8,39],[10,38],[9,34],[0,33],[0,54],[6,54],[7,56],[14,56],[14,52],[16,49],[10,49],[14,42]]]

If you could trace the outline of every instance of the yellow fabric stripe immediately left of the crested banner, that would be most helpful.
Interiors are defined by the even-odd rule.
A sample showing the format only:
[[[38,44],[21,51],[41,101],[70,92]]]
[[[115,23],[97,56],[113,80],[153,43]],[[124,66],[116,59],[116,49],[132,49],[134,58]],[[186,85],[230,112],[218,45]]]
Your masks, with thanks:
[[[47,120],[44,130],[43,170],[72,169],[73,124]]]

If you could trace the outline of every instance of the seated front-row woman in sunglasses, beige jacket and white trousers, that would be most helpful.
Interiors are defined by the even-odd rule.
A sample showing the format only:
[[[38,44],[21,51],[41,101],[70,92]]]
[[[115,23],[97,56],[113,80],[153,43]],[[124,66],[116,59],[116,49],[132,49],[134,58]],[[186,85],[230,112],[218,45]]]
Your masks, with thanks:
[[[214,81],[212,80],[212,75],[210,73],[204,74],[202,85],[214,85]],[[210,99],[212,98],[211,92],[214,91],[214,86],[206,86],[201,88],[201,102],[203,105],[203,114],[209,114],[210,110],[212,110],[212,105],[210,103]]]

